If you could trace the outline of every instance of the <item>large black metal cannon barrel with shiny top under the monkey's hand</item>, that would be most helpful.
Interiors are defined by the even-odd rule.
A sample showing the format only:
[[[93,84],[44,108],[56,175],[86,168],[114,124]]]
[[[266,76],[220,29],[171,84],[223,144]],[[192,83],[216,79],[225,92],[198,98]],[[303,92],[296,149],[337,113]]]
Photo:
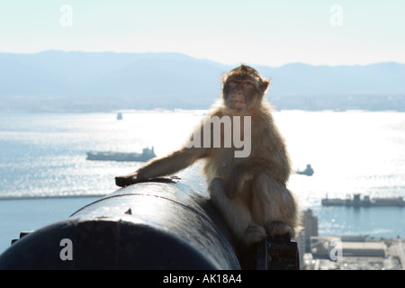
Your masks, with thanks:
[[[173,181],[130,185],[0,256],[0,269],[240,269],[229,230],[202,193]]]

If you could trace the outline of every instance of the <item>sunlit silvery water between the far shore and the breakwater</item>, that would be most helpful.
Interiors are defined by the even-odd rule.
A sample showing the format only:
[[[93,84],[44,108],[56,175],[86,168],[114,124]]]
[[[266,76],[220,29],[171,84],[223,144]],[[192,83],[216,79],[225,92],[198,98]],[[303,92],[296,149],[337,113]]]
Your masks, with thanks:
[[[1,195],[112,193],[113,177],[142,163],[85,160],[85,152],[140,152],[154,146],[158,157],[180,148],[204,111],[0,114]],[[405,113],[275,112],[293,169],[311,164],[312,176],[292,175],[289,188],[303,207],[326,194],[345,198],[404,196]],[[193,166],[181,172],[200,173]],[[201,175],[200,175],[201,176]]]

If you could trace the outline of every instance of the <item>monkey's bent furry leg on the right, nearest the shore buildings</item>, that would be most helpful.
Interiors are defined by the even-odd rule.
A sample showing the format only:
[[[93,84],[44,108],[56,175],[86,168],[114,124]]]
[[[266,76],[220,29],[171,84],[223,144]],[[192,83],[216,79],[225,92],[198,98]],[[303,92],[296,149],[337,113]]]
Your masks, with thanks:
[[[300,217],[293,194],[270,175],[257,175],[253,181],[254,220],[263,223],[270,237],[288,233],[291,238],[294,238],[295,229],[299,229],[300,226]]]

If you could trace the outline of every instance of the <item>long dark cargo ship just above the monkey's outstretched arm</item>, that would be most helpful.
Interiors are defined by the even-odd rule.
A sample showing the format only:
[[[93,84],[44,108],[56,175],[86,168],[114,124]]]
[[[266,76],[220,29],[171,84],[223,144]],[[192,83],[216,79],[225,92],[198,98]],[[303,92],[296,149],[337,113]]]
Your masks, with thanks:
[[[94,152],[88,151],[87,160],[96,161],[138,161],[146,162],[149,159],[156,157],[154,148],[143,148],[142,153],[125,153],[125,152]]]

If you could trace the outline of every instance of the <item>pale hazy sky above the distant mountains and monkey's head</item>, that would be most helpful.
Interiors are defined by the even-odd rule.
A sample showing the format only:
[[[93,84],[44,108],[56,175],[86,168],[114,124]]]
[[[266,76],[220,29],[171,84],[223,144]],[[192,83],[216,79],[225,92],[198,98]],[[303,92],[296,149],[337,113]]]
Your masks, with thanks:
[[[47,49],[273,67],[405,63],[405,1],[0,0],[0,52]]]

